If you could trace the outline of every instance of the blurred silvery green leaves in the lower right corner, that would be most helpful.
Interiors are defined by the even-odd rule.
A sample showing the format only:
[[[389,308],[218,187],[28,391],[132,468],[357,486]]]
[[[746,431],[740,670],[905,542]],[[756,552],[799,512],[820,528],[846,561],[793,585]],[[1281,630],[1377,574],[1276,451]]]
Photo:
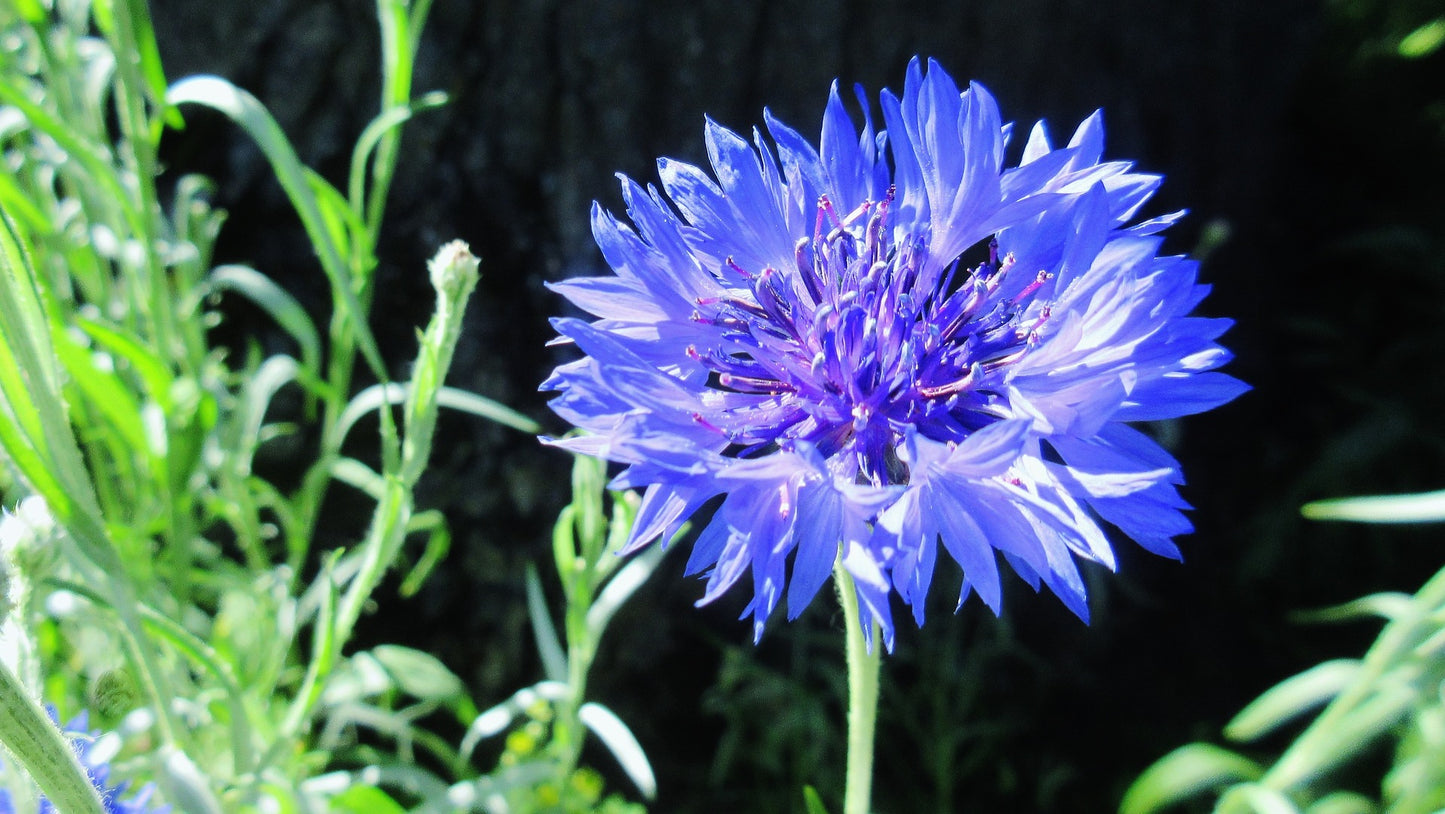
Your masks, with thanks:
[[[1373,523],[1441,520],[1439,493],[1347,497],[1305,506],[1315,519]],[[1280,681],[1225,727],[1240,750],[1191,743],[1130,787],[1120,814],[1149,814],[1217,797],[1222,814],[1435,814],[1445,808],[1445,570],[1415,596],[1371,594],[1312,614],[1322,622],[1379,617],[1363,658],[1318,664]],[[1243,749],[1308,721],[1273,761]],[[1337,775],[1390,749],[1379,795],[1340,788]],[[1253,753],[1253,752],[1251,752]]]

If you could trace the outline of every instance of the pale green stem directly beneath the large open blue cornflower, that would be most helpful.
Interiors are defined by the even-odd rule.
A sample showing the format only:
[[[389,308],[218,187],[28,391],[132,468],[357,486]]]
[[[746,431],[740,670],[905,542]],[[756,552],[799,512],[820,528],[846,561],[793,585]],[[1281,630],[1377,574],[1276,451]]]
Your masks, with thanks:
[[[844,781],[842,814],[868,814],[873,797],[873,729],[879,717],[883,654],[879,648],[868,651],[858,614],[858,591],[853,586],[853,575],[842,567],[842,560],[834,565],[832,580],[842,604],[848,652],[848,774]]]

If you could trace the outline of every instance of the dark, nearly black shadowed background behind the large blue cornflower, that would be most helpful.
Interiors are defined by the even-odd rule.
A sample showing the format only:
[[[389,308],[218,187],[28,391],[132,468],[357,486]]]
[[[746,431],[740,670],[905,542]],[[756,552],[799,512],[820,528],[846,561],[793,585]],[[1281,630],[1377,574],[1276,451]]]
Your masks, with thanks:
[[[370,3],[152,6],[172,78],[250,90],[308,165],[344,181],[376,114]],[[1183,564],[1121,544],[1118,574],[1088,574],[1091,626],[1017,580],[1001,620],[977,601],[951,616],[957,571],[941,565],[928,626],[902,627],[884,668],[876,808],[1110,811],[1153,759],[1218,740],[1260,691],[1374,635],[1292,612],[1413,591],[1445,560],[1429,528],[1298,515],[1309,499],[1445,484],[1445,52],[1394,51],[1438,13],[1431,0],[438,0],[415,88],[452,101],[407,124],[373,327],[405,370],[431,309],[423,263],[467,240],[484,278],[449,382],[561,431],[536,392],[562,359],[543,347],[564,309],[543,283],[605,270],[590,202],[621,210],[613,173],[655,181],[656,156],[702,163],[705,113],[747,130],[770,106],[816,133],[835,77],[876,98],[915,53],[988,85],[1023,127],[1046,119],[1056,142],[1103,107],[1105,155],[1168,176],[1144,215],[1192,211],[1172,250],[1228,236],[1205,257],[1202,311],[1238,321],[1230,370],[1254,390],[1166,428],[1198,532],[1181,539]],[[218,181],[231,218],[217,262],[256,266],[322,318],[324,278],[259,150],[192,111],[166,158]],[[223,328],[247,333],[273,330],[246,312]],[[538,680],[522,574],[548,558],[568,467],[532,438],[445,416],[419,499],[447,513],[452,554],[415,599],[383,591],[363,638],[429,649],[483,707]],[[351,516],[335,507],[325,542],[348,544]],[[695,610],[701,583],[681,571],[670,558],[614,622],[591,691],[650,755],[655,810],[799,811],[805,782],[837,807],[829,603],[753,648],[736,622],[746,597]],[[605,753],[587,761],[627,789]]]

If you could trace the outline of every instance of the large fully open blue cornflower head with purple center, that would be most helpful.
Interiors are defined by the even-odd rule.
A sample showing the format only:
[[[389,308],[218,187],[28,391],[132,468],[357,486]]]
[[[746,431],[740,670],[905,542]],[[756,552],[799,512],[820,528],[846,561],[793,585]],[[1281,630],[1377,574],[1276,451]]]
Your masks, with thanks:
[[[1098,113],[1006,166],[993,97],[932,61],[881,130],[857,97],[861,132],[834,85],[818,147],[766,111],[772,146],[709,120],[715,179],[662,159],[660,191],[621,178],[631,226],[594,205],[616,276],[553,286],[598,320],[553,321],[585,356],[542,385],[587,434],[549,442],[627,464],[631,548],[725,494],[686,571],[699,604],[750,571],[757,636],[841,557],[892,648],[890,593],[923,623],[939,541],[959,606],[998,612],[1001,552],[1087,620],[1100,520],[1173,558],[1192,531],[1179,464],[1129,422],[1247,389],[1212,372],[1231,322],[1189,317],[1198,265],[1157,254],[1183,213],[1130,226],[1162,178],[1100,160]]]

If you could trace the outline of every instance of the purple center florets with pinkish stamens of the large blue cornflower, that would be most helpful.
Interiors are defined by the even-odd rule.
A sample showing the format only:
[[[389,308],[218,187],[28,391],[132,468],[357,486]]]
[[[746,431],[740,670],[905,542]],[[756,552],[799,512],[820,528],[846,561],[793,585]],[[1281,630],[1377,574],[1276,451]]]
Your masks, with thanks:
[[[997,419],[1004,369],[1049,318],[1035,299],[1051,275],[1019,279],[996,239],[962,275],[961,259],[929,263],[926,236],[889,223],[892,204],[889,189],[840,215],[821,198],[792,269],[753,273],[728,259],[749,289],[698,302],[695,320],[718,343],[688,353],[737,419],[720,422],[736,428],[737,455],[806,441],[840,476],[903,483],[896,447],[909,427],[959,441]]]

